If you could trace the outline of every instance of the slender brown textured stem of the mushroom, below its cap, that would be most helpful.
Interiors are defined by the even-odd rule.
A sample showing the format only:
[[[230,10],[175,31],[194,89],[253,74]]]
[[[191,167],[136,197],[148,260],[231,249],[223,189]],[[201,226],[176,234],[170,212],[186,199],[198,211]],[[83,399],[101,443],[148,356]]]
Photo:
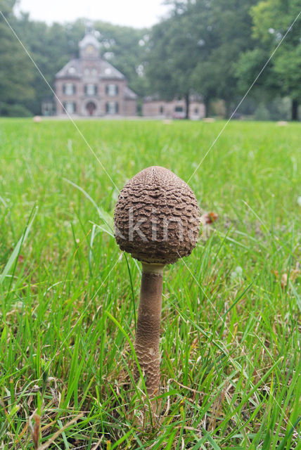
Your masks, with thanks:
[[[160,384],[160,319],[163,265],[142,263],[140,302],[136,326],[135,351],[143,373],[148,397],[158,395]],[[134,380],[140,378],[135,368]]]

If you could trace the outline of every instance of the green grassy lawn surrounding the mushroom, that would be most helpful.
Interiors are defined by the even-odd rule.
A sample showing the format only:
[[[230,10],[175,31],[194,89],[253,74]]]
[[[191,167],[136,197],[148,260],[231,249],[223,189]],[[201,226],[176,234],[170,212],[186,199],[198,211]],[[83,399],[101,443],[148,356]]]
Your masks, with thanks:
[[[150,165],[188,181],[224,122],[77,126],[87,142],[0,121],[0,448],[300,449],[301,124],[231,122],[189,181],[219,219],[165,269],[162,416],[144,428],[118,189]]]

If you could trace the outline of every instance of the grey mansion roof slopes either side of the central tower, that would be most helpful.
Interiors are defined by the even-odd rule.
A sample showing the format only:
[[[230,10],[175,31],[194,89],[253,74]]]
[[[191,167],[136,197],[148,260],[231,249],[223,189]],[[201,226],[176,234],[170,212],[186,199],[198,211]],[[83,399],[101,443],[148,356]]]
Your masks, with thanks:
[[[84,63],[85,62],[79,58],[70,60],[56,74],[56,79],[82,79],[84,72]],[[94,60],[94,67],[98,69],[98,77],[101,79],[125,79],[124,75],[119,70],[117,70],[112,64],[108,63],[108,61],[105,61],[101,58]]]

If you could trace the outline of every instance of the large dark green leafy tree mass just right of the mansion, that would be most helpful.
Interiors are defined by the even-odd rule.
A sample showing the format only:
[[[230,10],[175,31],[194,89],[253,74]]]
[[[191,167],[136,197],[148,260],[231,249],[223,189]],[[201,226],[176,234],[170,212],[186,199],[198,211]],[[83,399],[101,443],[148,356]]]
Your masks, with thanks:
[[[237,96],[236,61],[250,46],[249,10],[257,0],[169,1],[170,18],[151,35],[148,77],[165,97],[203,95],[206,113],[222,98],[227,115]]]

